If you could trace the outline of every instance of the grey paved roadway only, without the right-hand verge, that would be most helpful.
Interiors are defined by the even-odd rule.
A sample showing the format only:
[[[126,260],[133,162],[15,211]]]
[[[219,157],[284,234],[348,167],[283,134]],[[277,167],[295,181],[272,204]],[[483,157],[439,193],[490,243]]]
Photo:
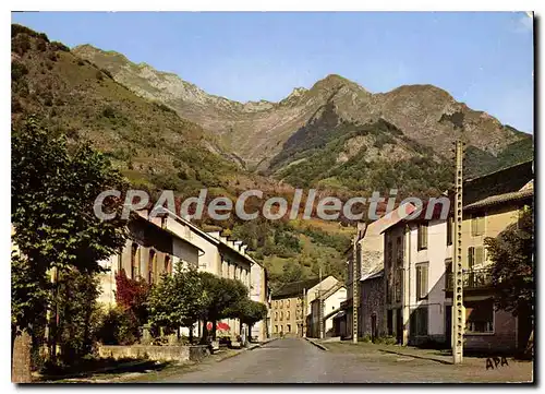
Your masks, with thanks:
[[[184,383],[342,383],[377,381],[378,367],[324,351],[301,338],[283,338],[197,371],[169,377]],[[391,378],[391,377],[390,377]],[[384,377],[383,381],[390,381]]]

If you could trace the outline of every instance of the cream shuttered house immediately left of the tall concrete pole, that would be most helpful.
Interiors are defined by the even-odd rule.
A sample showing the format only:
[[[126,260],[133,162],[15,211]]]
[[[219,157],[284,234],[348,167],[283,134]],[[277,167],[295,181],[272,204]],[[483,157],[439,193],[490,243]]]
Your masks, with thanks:
[[[445,343],[445,266],[451,246],[443,205],[435,207],[429,220],[425,205],[416,218],[384,230],[386,332],[403,345]],[[445,210],[448,214],[449,206]]]

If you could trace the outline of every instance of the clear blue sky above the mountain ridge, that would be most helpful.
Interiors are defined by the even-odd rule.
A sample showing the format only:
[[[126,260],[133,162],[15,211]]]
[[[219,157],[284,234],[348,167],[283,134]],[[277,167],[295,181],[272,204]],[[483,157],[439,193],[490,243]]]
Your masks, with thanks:
[[[522,12],[41,12],[12,21],[240,102],[277,102],[336,73],[373,93],[433,84],[533,132],[533,27]]]

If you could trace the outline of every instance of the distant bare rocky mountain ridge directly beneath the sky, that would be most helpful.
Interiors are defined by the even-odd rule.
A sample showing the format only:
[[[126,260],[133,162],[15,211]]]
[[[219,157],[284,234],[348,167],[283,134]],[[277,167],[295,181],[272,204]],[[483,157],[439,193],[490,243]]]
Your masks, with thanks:
[[[338,120],[336,126],[348,122],[362,127],[385,121],[423,148],[431,147],[434,154],[443,157],[450,156],[452,142],[462,136],[471,155],[476,156],[473,160],[476,168],[471,168],[470,172],[479,171],[480,156],[486,160],[487,170],[513,164],[505,163],[509,162],[512,146],[519,147],[513,153],[513,160],[521,156],[519,153],[524,157],[532,154],[532,150],[528,150],[532,145],[529,134],[501,124],[486,112],[470,109],[433,85],[405,85],[373,94],[332,74],[310,89],[295,88],[279,103],[242,104],[209,95],[175,74],[157,71],[148,64],[135,64],[113,51],[89,45],[75,47],[73,51],[107,69],[136,94],[159,100],[217,135],[222,148],[233,152],[249,169],[267,172],[278,169],[279,157],[288,157],[289,152],[293,152],[293,135],[301,134],[301,130],[314,133],[311,123],[326,106],[332,106]],[[301,135],[298,139],[301,140]],[[508,146],[511,151],[504,154],[504,159],[498,159]],[[304,148],[300,145],[298,152]]]

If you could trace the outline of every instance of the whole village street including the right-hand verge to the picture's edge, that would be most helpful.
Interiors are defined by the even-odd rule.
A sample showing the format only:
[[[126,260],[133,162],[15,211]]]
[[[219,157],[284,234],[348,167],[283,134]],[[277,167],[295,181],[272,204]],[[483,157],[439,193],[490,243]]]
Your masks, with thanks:
[[[272,341],[220,362],[204,362],[157,383],[456,383],[528,382],[531,362],[486,370],[484,359],[452,366],[440,357],[389,353],[380,346],[327,344],[322,350],[303,338]],[[391,347],[395,349],[396,347]],[[400,351],[404,351],[400,349]]]

